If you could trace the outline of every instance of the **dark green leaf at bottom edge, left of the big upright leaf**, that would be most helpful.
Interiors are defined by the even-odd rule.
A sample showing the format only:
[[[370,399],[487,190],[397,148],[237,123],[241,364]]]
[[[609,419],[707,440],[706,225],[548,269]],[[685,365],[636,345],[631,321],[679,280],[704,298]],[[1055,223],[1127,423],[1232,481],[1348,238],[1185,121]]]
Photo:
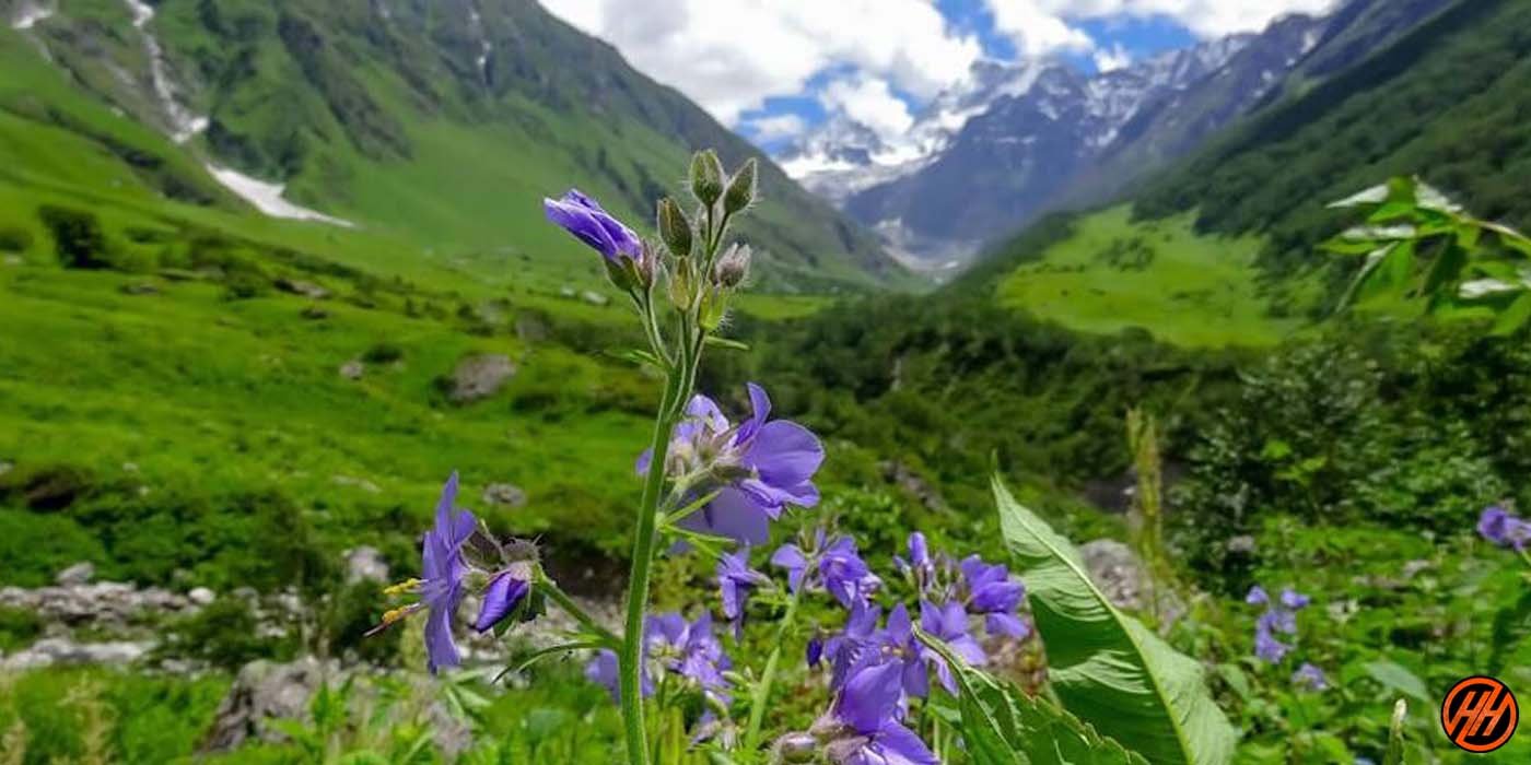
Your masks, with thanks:
[[[942,655],[957,679],[963,742],[975,765],[1144,765],[1147,760],[1101,736],[1055,704],[969,667],[939,638],[920,640]]]

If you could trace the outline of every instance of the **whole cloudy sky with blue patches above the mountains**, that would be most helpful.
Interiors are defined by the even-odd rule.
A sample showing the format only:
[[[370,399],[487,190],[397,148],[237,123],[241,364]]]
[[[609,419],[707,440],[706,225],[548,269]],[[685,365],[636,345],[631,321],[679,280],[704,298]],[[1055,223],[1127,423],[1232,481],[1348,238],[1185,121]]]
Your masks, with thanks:
[[[1130,66],[1337,0],[540,0],[767,148],[833,113],[883,136],[980,58]]]

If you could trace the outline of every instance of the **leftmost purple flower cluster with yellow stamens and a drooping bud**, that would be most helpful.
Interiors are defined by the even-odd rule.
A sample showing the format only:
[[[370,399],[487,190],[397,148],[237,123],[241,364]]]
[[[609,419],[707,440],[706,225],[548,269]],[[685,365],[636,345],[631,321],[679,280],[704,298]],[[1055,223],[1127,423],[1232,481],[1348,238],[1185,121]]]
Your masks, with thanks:
[[[441,488],[436,522],[421,542],[419,578],[386,591],[390,595],[413,592],[419,600],[389,610],[372,630],[380,632],[410,614],[426,610],[426,658],[432,673],[462,662],[452,636],[452,623],[468,589],[476,588],[482,594],[473,629],[488,632],[517,612],[530,615],[524,606],[530,604],[528,595],[539,571],[536,546],[519,540],[498,543],[479,528],[473,513],[456,508],[456,500],[458,474],[453,473]],[[465,555],[470,540],[481,542],[491,552],[488,560],[493,563],[470,560]]]

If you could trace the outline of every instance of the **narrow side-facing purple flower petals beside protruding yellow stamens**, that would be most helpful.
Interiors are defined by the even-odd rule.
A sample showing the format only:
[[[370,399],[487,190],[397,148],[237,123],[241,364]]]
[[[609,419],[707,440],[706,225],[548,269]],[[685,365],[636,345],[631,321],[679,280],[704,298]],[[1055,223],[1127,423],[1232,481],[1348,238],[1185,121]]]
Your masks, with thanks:
[[[456,509],[456,499],[458,474],[453,471],[436,502],[436,525],[426,532],[421,545],[419,600],[430,609],[426,617],[426,658],[432,675],[462,662],[452,640],[452,618],[462,601],[462,577],[467,575],[462,545],[473,536],[478,522],[472,513]]]

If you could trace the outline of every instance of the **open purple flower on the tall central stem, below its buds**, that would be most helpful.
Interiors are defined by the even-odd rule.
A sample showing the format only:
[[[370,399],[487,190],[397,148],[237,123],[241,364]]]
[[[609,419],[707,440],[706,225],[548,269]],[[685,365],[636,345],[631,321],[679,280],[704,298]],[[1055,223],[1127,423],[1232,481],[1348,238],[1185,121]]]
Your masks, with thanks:
[[[787,505],[811,508],[819,503],[813,474],[824,464],[824,445],[808,428],[785,419],[769,421],[770,398],[759,386],[749,384],[753,415],[730,427],[717,402],[695,396],[686,407],[687,418],[675,428],[671,444],[674,464],[666,470],[680,476],[706,476],[721,485],[707,506],[681,520],[681,526],[730,537],[749,545],[770,539],[770,522]],[[646,473],[649,456],[638,457]]]

